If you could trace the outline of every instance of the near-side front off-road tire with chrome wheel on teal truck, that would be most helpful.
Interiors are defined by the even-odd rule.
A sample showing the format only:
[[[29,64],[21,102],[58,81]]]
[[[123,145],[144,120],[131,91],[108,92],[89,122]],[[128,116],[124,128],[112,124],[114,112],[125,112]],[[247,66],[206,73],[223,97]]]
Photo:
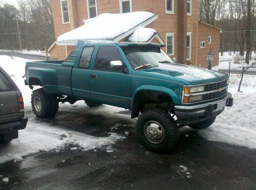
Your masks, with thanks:
[[[142,144],[153,152],[169,152],[178,142],[179,130],[175,120],[165,111],[146,110],[136,125]]]

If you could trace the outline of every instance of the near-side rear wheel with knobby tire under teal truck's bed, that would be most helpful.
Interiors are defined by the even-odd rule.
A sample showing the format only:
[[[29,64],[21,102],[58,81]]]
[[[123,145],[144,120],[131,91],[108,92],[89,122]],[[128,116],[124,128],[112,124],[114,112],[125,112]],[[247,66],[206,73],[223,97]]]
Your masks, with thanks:
[[[57,96],[47,94],[42,88],[32,93],[31,104],[34,114],[39,118],[53,117],[59,108]]]

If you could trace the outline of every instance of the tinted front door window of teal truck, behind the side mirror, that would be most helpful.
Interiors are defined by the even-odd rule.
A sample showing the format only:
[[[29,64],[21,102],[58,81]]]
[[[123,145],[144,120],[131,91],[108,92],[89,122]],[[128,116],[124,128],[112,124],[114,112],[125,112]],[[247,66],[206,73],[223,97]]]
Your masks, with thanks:
[[[112,46],[101,46],[99,48],[96,63],[94,66],[95,70],[111,70],[111,71],[120,71],[122,72],[122,68],[118,70],[113,70],[110,68],[110,62],[111,61],[121,61],[123,63],[123,59],[117,50],[116,47]]]

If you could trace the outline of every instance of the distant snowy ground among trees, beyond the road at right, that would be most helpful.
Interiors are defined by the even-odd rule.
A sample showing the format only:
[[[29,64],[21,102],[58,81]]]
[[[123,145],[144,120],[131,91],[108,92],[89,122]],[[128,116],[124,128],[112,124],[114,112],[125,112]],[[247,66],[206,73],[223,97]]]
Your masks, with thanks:
[[[219,55],[220,58],[220,63],[219,66],[216,66],[216,68],[220,69],[220,70],[228,70],[229,69],[229,62],[230,64],[230,70],[242,70],[243,66],[246,67],[248,66],[247,64],[244,63],[244,59],[245,59],[245,55],[244,57],[239,56],[239,52],[235,52],[235,53],[231,53],[231,55],[229,55],[228,52],[224,52],[223,56],[221,56],[221,53]],[[256,53],[252,52],[252,56],[251,56],[251,61],[250,61],[250,66],[252,64],[256,64]],[[255,65],[256,67],[256,65]],[[216,70],[215,68],[215,70]],[[256,71],[256,68],[250,68],[248,71]]]

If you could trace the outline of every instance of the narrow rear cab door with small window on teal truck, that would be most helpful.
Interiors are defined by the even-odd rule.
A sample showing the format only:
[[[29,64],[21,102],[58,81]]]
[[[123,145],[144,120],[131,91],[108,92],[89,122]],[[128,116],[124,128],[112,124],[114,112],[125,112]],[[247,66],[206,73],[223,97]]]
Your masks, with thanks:
[[[90,65],[95,46],[83,48],[78,68],[72,70],[73,95],[84,100],[90,99]]]

